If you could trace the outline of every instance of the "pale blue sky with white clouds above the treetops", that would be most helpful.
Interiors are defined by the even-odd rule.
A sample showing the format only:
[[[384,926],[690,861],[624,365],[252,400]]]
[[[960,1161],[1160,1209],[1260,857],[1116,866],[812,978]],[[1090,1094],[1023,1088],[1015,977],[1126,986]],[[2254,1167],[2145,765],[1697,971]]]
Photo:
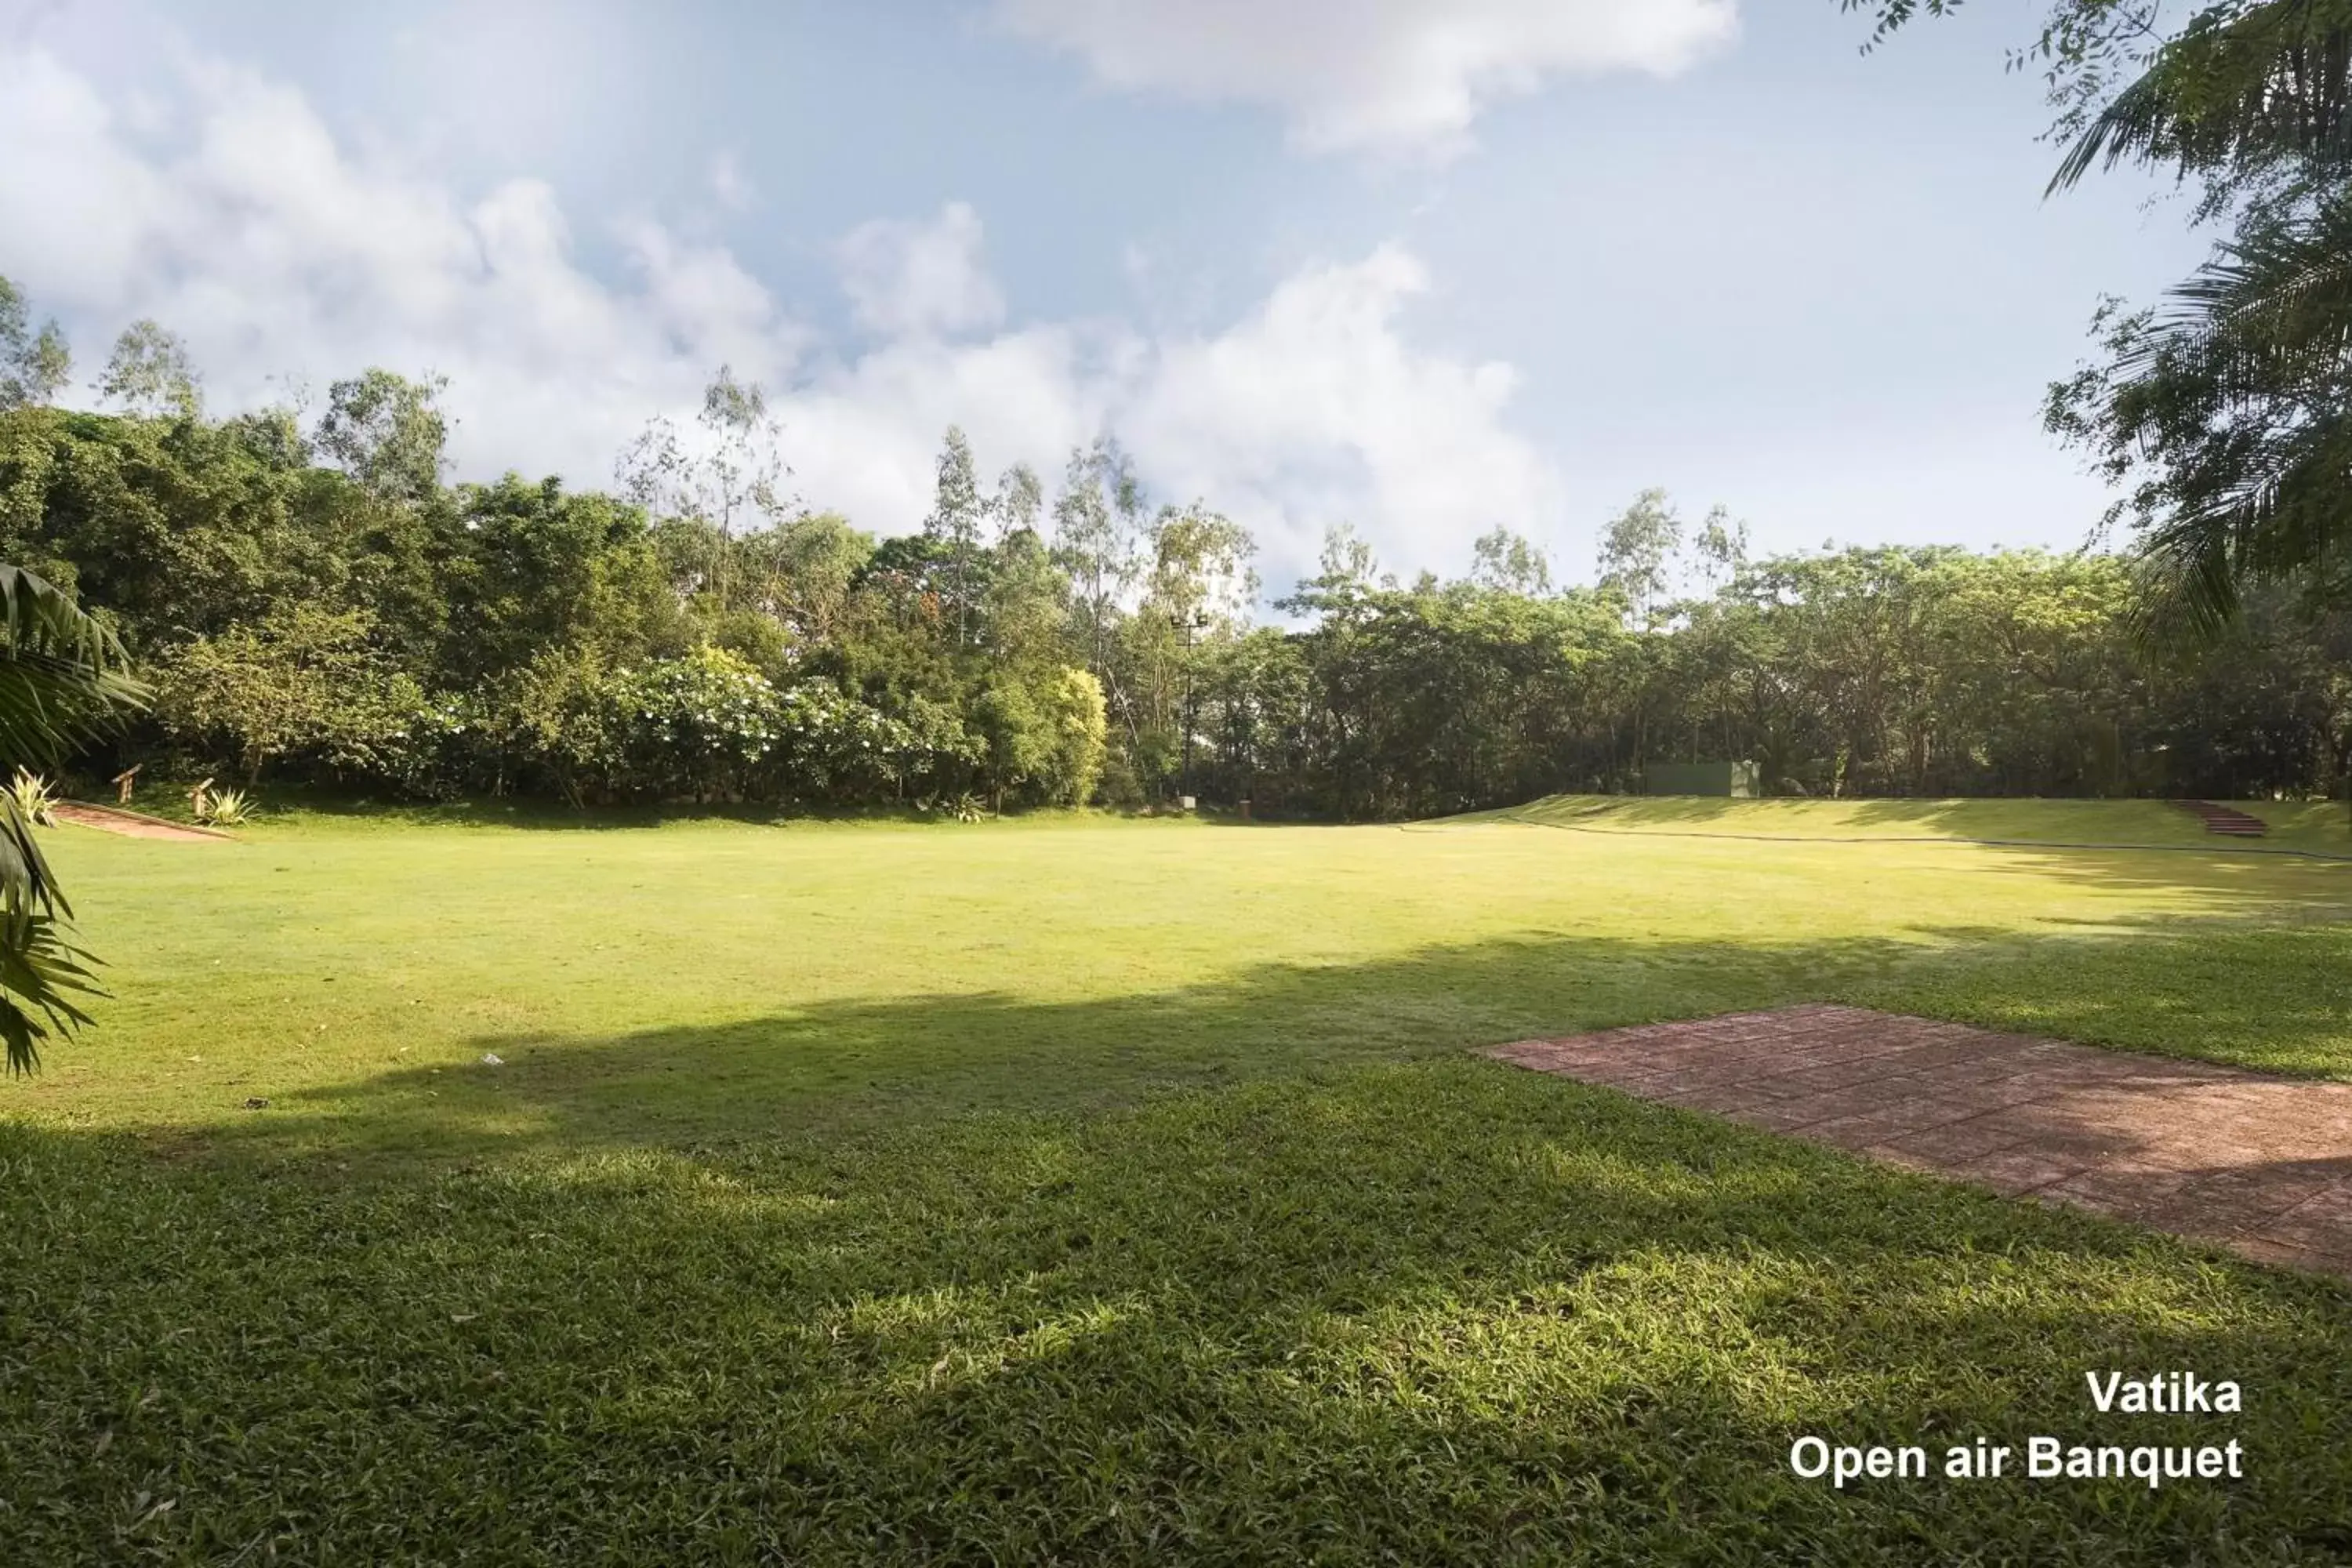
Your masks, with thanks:
[[[0,275],[94,402],[440,374],[456,477],[612,482],[720,364],[800,498],[903,534],[1115,433],[1155,501],[1399,574],[1590,581],[1644,487],[1757,550],[2074,548],[2039,425],[2103,294],[2206,249],[2044,200],[2039,7],[1860,52],[1835,0],[0,0]]]

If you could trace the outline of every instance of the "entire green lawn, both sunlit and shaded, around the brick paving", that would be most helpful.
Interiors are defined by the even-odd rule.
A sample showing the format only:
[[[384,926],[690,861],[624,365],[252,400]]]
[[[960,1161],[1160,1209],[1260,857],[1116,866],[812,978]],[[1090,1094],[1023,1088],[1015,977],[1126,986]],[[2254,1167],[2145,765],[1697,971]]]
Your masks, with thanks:
[[[1846,999],[2352,1079],[2352,865],[1952,842],[2161,827],[61,830],[118,997],[0,1086],[0,1561],[2338,1561],[2352,1291],[1463,1053]]]

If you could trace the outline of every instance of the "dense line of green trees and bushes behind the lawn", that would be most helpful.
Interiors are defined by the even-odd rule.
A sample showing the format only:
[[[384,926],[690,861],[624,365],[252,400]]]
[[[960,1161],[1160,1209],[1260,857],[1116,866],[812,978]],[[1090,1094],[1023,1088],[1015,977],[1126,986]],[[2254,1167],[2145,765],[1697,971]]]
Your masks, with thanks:
[[[212,418],[141,322],[106,411],[61,409],[64,339],[0,299],[0,559],[71,590],[153,689],[82,755],[96,776],[1383,818],[1693,759],[1785,795],[2305,795],[2352,769],[2352,625],[2288,583],[2166,651],[2126,557],[1752,559],[1722,508],[1686,524],[1649,491],[1595,585],[1503,529],[1468,576],[1399,581],[1336,529],[1256,623],[1251,536],[1155,505],[1112,440],[1047,484],[983,480],[948,430],[922,531],[875,538],[790,494],[762,390],[727,371],[609,491],[452,484],[433,381]]]

